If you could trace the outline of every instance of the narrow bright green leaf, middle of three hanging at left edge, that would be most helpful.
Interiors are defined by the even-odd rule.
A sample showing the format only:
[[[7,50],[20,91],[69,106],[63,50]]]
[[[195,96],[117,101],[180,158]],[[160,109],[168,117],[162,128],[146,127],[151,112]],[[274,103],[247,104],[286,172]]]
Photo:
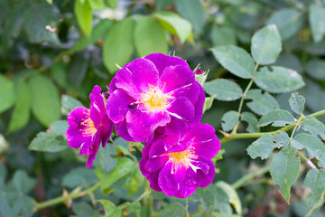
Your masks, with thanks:
[[[16,101],[8,132],[23,128],[28,123],[31,116],[32,98],[27,83],[23,80],[17,80],[14,88],[16,92]]]

